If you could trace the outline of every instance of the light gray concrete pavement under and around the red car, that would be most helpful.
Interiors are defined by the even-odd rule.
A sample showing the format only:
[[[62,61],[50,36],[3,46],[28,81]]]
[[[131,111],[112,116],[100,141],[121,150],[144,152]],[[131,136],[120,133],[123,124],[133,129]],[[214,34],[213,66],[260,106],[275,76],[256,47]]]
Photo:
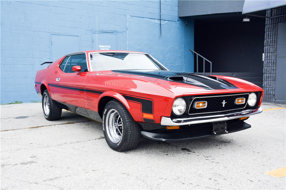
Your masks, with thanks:
[[[0,188],[285,189],[285,176],[265,174],[286,165],[285,111],[251,116],[252,127],[240,132],[182,142],[141,138],[136,149],[116,152],[98,122],[64,111],[47,121],[41,103],[1,105]]]

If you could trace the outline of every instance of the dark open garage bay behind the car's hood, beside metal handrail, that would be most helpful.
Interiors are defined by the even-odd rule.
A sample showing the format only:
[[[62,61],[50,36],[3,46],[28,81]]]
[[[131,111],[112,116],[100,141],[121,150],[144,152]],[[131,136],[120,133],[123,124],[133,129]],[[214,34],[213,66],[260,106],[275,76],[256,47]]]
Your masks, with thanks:
[[[246,15],[194,19],[194,51],[212,62],[213,74],[245,79],[262,87],[265,18]],[[196,56],[194,71],[196,72]],[[205,72],[210,72],[206,62]],[[203,72],[199,58],[198,71]]]

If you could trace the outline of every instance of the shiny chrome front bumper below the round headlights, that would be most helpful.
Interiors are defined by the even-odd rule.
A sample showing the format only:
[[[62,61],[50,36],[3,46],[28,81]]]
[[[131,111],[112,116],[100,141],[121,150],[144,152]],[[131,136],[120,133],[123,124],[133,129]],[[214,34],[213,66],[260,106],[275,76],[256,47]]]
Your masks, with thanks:
[[[240,117],[248,117],[250,115],[261,113],[261,112],[262,112],[262,107],[258,106],[257,109],[244,110],[244,111],[229,113],[225,115],[210,115],[210,116],[186,117],[186,118],[177,118],[177,119],[176,118],[171,119],[170,117],[162,117],[161,125],[179,126],[179,125],[224,121],[224,120],[231,120],[231,119],[236,119]]]

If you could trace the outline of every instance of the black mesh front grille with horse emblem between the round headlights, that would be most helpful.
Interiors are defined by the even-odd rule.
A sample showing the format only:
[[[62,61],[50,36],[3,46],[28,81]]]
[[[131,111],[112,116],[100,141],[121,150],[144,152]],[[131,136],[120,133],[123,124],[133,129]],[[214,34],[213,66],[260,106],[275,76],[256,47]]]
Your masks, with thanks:
[[[200,113],[213,113],[230,111],[235,109],[243,109],[247,104],[249,93],[246,94],[235,94],[235,95],[220,95],[220,96],[207,96],[207,97],[195,97],[192,100],[188,114],[200,114]],[[237,98],[245,98],[244,104],[235,104]],[[193,105],[197,101],[207,101],[207,107],[202,109],[194,109]],[[225,106],[223,107],[223,101],[225,101]]]

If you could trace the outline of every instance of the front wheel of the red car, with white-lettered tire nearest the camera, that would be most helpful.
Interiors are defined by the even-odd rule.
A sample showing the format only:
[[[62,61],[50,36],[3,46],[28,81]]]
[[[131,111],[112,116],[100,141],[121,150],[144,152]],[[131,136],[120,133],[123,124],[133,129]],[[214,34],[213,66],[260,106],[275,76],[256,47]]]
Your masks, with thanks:
[[[140,127],[120,101],[111,100],[107,103],[102,125],[105,140],[113,150],[122,152],[138,145]]]

